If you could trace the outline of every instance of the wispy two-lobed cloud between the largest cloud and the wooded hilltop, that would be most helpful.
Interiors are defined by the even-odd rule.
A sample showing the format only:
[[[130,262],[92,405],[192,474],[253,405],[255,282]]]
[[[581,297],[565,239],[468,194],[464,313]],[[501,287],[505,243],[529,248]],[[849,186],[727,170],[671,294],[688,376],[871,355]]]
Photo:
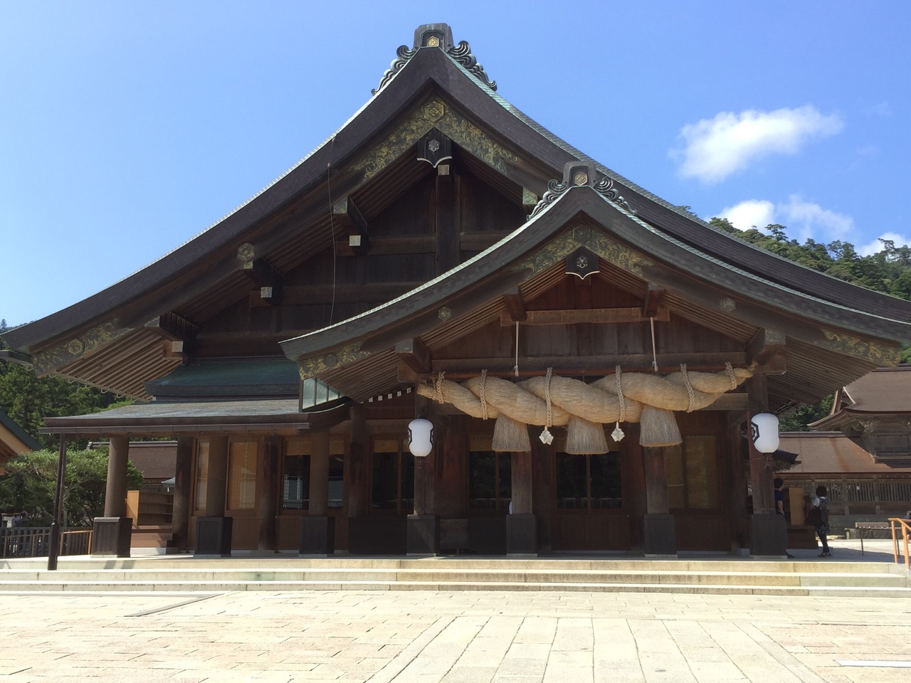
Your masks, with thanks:
[[[771,223],[780,223],[787,229],[789,238],[800,242],[807,239],[824,244],[833,240],[850,241],[850,233],[854,230],[854,219],[850,216],[823,209],[799,195],[791,195],[787,202],[780,204],[767,199],[748,199],[722,209],[718,215],[740,230],[763,229]]]

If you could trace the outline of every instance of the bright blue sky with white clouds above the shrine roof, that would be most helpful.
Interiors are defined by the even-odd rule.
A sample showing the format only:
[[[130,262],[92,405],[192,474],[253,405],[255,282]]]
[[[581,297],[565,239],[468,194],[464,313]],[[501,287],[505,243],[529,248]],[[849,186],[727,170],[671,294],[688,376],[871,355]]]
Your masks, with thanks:
[[[527,115],[703,218],[862,252],[911,238],[906,0],[7,0],[0,318],[65,308],[209,227],[431,22]]]

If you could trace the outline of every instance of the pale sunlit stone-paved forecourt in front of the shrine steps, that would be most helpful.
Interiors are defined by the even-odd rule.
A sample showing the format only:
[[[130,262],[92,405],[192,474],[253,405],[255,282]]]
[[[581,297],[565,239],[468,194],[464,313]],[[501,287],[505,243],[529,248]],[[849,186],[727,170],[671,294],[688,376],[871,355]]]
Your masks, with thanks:
[[[9,683],[911,680],[911,599],[880,597],[0,592],[0,628]]]

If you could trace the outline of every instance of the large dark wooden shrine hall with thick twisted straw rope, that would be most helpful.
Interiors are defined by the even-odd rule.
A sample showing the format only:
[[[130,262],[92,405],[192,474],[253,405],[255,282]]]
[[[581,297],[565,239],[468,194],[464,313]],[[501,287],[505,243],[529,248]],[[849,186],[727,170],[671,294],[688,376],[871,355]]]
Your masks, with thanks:
[[[110,441],[97,554],[129,440],[169,437],[200,555],[783,556],[751,416],[896,365],[909,320],[586,157],[432,24],[240,209],[4,339],[135,399],[46,419]]]

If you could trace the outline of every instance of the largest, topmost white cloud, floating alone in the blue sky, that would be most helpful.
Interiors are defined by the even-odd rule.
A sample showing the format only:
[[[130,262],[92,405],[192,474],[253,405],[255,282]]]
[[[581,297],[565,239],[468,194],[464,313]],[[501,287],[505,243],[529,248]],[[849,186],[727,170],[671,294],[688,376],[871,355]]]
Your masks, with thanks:
[[[835,135],[842,127],[840,117],[824,116],[811,105],[771,112],[724,111],[682,127],[684,148],[671,156],[682,159],[684,178],[717,183],[756,158],[796,154],[807,140]]]

